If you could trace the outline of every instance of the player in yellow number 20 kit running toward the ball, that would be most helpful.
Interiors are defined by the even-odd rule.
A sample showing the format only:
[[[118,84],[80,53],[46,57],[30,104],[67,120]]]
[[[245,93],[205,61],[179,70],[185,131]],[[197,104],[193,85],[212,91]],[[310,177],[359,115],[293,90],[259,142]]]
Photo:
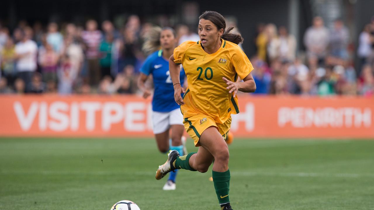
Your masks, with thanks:
[[[200,41],[186,41],[169,58],[174,99],[181,105],[184,127],[199,146],[196,152],[180,156],[172,151],[156,172],[161,179],[175,169],[205,173],[213,164],[212,177],[221,210],[232,210],[229,200],[229,148],[225,142],[231,126],[231,114],[239,113],[236,93],[254,92],[252,64],[237,44],[240,34],[225,31],[220,13],[207,11],[199,17]],[[180,84],[179,64],[183,64],[188,87]],[[236,82],[237,77],[244,82]],[[184,93],[181,97],[181,93]]]

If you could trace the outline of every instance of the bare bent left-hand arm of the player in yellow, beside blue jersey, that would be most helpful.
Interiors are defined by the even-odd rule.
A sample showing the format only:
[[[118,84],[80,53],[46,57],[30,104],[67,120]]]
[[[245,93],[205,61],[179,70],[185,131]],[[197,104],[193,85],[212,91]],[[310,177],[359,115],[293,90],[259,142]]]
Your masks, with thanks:
[[[179,80],[181,68],[179,64],[175,64],[174,55],[171,55],[169,58],[169,72],[174,86],[174,100],[178,105],[184,105],[181,94],[186,93],[186,89],[182,87],[181,81]]]

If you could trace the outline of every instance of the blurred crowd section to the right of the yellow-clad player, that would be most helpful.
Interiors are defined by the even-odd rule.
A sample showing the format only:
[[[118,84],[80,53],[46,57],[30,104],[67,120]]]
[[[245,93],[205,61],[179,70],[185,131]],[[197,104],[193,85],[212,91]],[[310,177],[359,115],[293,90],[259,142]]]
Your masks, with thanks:
[[[374,16],[359,35],[358,46],[350,39],[341,19],[329,29],[317,16],[304,33],[305,52],[297,52],[297,41],[285,27],[260,24],[254,40],[257,55],[250,58],[254,94],[373,96]]]

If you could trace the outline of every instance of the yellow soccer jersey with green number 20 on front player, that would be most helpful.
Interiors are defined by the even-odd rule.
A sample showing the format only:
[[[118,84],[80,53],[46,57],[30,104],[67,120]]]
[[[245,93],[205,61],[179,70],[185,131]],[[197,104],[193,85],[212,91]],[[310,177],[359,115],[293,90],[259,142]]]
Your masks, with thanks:
[[[221,39],[220,49],[206,53],[200,41],[186,41],[174,50],[174,62],[182,64],[187,76],[187,89],[181,106],[184,118],[206,114],[217,123],[224,123],[230,114],[239,113],[237,96],[226,89],[228,80],[245,78],[252,64],[237,44]]]

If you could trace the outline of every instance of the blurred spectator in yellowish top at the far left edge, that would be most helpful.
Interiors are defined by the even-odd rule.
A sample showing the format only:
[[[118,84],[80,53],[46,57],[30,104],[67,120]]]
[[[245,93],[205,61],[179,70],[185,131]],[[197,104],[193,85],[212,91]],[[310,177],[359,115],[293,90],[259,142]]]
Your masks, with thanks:
[[[0,52],[2,75],[7,78],[10,84],[13,84],[17,74],[14,61],[15,61],[15,46],[12,38],[8,38],[6,44]]]

